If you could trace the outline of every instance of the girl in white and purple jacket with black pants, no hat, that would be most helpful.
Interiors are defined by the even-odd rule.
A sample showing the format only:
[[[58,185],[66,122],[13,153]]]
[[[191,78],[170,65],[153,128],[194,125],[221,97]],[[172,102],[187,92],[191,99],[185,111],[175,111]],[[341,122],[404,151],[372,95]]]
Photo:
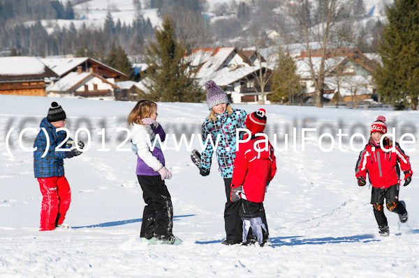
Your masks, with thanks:
[[[142,214],[140,238],[149,243],[179,244],[172,234],[173,206],[164,180],[172,174],[165,167],[160,141],[166,133],[157,118],[157,105],[151,100],[140,100],[128,116],[131,141],[138,155],[136,174],[142,189],[145,208]],[[154,140],[156,139],[156,144]],[[154,149],[150,150],[154,145]]]

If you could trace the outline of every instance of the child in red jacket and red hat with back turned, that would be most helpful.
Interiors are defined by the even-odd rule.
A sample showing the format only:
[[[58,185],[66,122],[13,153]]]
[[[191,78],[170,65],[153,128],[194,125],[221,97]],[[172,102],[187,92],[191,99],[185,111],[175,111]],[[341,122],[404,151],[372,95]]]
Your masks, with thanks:
[[[263,133],[266,125],[265,109],[247,115],[246,128],[250,131],[239,144],[231,182],[231,201],[240,201],[240,217],[243,221],[243,242],[249,243],[248,234],[256,236],[259,245],[269,245],[263,208],[267,185],[277,172],[274,148]],[[241,199],[240,199],[241,198]],[[251,230],[251,233],[250,233]]]

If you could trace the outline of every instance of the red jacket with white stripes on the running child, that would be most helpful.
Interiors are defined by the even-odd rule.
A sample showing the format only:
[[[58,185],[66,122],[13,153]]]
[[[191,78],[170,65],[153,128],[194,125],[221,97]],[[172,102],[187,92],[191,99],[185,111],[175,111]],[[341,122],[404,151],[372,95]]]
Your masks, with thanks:
[[[383,141],[384,148],[389,149],[389,144],[389,139]],[[399,164],[405,174],[412,174],[409,156],[404,153],[397,142],[395,143],[395,149],[388,153],[369,142],[360,153],[355,168],[355,176],[365,178],[368,173],[369,181],[373,187],[388,188],[400,183]]]

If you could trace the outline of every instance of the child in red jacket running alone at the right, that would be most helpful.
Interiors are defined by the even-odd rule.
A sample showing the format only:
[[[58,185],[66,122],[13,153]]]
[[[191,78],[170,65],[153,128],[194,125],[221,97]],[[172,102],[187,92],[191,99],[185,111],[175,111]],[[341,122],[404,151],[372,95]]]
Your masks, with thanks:
[[[399,144],[385,137],[381,146],[383,134],[387,132],[384,116],[378,116],[371,125],[371,137],[367,146],[361,151],[355,167],[358,185],[364,186],[367,173],[372,184],[371,203],[374,208],[380,235],[389,235],[387,218],[384,215],[384,199],[387,209],[399,215],[400,222],[408,219],[406,204],[399,201],[400,168],[404,172],[404,186],[411,182],[412,170],[409,160]],[[385,152],[383,150],[390,150]],[[399,168],[400,165],[400,168]]]

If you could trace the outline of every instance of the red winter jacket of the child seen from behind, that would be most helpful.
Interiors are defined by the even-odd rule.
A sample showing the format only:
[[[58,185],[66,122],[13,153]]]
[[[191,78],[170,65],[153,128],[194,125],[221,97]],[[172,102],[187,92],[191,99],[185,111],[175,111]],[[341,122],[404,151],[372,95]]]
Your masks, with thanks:
[[[253,148],[256,141],[260,153]],[[266,142],[268,146],[265,150]],[[262,136],[252,137],[250,141],[239,144],[231,184],[243,186],[242,199],[261,203],[265,199],[266,183],[274,178],[276,172],[277,160],[270,142]]]

